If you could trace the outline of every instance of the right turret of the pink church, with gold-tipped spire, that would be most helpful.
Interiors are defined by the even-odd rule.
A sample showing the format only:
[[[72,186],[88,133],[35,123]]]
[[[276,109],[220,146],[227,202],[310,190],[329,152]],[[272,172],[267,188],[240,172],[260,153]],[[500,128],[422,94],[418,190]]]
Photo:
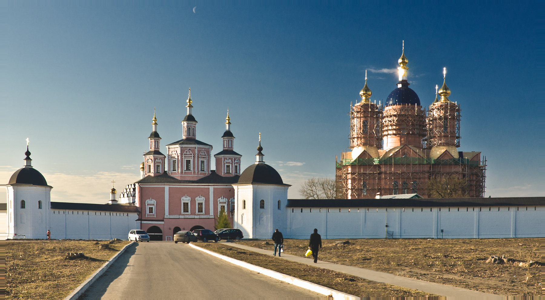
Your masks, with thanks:
[[[231,132],[231,118],[227,109],[225,118],[225,132],[223,132],[223,150],[214,155],[216,158],[216,173],[221,176],[240,175],[240,158],[242,155],[235,152],[233,133]]]

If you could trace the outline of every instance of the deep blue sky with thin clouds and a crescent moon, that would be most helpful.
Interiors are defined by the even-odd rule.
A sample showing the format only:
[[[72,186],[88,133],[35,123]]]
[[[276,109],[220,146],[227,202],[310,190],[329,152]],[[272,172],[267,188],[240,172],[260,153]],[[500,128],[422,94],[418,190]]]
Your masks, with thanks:
[[[140,179],[154,108],[161,150],[181,139],[191,87],[197,139],[221,151],[227,109],[242,168],[292,185],[334,177],[350,103],[435,85],[462,109],[461,148],[486,156],[485,197],[543,196],[533,3],[15,1],[0,15],[0,183],[32,164],[52,201],[106,203]],[[528,107],[526,107],[528,105]],[[541,125],[540,125],[541,124]],[[5,193],[0,193],[5,202]]]

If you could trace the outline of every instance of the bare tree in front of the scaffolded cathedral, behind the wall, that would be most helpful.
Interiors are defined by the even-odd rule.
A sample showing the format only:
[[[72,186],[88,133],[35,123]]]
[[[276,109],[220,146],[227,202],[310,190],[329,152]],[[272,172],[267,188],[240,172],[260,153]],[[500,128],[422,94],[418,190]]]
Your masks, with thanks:
[[[426,193],[429,198],[467,198],[468,181],[456,175],[437,175],[428,180]]]

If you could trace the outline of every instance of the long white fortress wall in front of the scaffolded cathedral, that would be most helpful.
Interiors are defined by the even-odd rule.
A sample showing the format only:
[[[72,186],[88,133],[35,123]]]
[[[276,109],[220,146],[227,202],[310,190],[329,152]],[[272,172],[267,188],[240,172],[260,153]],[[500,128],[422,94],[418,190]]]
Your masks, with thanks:
[[[450,211],[449,211],[450,209]],[[293,210],[293,212],[292,212]],[[322,238],[499,238],[545,237],[545,206],[288,207],[284,237],[306,239],[318,229]],[[431,210],[431,211],[430,211]],[[386,225],[388,225],[386,227]],[[282,231],[282,229],[281,229]]]

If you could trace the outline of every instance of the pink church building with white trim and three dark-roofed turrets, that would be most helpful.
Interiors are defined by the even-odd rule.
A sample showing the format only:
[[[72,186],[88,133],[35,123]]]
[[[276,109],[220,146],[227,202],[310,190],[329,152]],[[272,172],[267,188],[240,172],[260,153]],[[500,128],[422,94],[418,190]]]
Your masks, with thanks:
[[[221,209],[233,224],[232,184],[240,177],[242,156],[233,150],[235,137],[229,112],[221,137],[223,149],[214,155],[213,170],[212,145],[197,139],[191,89],[186,108],[187,115],[181,121],[182,139],[166,145],[166,155],[160,151],[161,137],[154,114],[149,151],[140,166],[141,179],[126,186],[119,197],[120,204],[134,203],[140,209],[136,221],[156,241],[172,240],[180,230],[213,230]]]

